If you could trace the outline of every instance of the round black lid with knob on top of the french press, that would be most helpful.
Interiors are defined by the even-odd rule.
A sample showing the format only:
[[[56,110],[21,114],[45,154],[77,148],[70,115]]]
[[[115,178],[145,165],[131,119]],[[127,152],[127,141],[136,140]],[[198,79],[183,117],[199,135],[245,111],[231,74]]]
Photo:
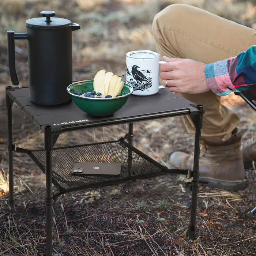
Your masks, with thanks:
[[[70,20],[63,18],[51,18],[55,16],[54,11],[42,11],[40,18],[28,19],[26,25],[30,27],[41,28],[60,28],[67,27],[71,24]]]

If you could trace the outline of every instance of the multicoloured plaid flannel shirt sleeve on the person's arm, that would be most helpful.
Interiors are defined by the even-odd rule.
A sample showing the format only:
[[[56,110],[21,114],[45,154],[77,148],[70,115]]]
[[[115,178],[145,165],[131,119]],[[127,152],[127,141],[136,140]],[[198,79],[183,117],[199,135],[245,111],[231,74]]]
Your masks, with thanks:
[[[206,82],[217,95],[256,87],[256,45],[236,57],[207,64]]]

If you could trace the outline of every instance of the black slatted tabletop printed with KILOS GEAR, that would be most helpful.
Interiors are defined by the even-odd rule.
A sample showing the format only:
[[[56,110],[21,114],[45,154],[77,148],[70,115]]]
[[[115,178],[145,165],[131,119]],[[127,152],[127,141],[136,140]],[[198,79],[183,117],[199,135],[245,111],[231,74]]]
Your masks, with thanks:
[[[29,87],[14,88],[7,94],[42,131],[45,125],[60,126],[62,131],[74,131],[199,112],[192,102],[167,89],[150,96],[130,95],[123,108],[105,117],[84,113],[73,101],[56,106],[36,105],[29,99]]]

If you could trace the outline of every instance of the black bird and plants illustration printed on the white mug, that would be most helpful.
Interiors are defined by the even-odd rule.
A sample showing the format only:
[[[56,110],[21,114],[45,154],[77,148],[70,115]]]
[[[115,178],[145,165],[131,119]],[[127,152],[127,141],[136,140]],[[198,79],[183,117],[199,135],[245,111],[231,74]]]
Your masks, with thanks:
[[[126,76],[134,91],[143,91],[152,86],[151,72],[148,69],[145,70],[137,65],[133,65],[130,70],[126,67]]]

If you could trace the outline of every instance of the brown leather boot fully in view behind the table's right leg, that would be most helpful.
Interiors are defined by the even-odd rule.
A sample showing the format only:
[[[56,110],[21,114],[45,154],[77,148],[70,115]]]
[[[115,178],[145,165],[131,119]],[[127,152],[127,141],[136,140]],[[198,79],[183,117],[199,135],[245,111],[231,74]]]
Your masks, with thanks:
[[[225,142],[205,140],[200,152],[199,181],[211,187],[226,190],[242,190],[246,187],[244,162],[242,158],[241,132],[236,130]],[[174,152],[170,163],[180,169],[193,170],[193,155]]]

